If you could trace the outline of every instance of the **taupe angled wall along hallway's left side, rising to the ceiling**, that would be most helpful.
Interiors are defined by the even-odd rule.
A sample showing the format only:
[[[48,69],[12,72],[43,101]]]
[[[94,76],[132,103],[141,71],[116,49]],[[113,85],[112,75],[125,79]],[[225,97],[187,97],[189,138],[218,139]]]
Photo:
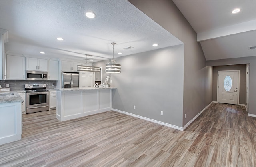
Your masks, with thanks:
[[[212,101],[212,67],[206,67],[196,32],[172,1],[129,2],[184,43],[184,126]]]

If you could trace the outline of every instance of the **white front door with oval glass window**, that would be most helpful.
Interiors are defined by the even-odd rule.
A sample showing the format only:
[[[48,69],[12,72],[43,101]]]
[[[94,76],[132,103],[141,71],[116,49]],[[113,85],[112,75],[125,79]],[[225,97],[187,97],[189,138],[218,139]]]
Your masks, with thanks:
[[[238,104],[239,70],[218,71],[218,103]]]

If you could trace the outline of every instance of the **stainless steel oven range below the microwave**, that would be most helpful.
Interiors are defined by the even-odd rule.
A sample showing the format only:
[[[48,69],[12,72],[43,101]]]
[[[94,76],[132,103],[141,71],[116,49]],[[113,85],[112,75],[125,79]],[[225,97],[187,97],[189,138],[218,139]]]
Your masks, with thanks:
[[[46,84],[25,84],[26,113],[49,110],[49,91]]]

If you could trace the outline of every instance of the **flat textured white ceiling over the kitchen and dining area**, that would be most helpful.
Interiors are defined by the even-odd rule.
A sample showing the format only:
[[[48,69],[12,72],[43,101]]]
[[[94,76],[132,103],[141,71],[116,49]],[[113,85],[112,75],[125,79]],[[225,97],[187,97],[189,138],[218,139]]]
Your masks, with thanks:
[[[96,18],[86,18],[87,11]],[[30,57],[83,60],[88,54],[99,61],[112,58],[111,42],[115,57],[182,44],[126,0],[0,0],[0,28],[9,31],[8,53]],[[128,46],[134,48],[123,49]]]

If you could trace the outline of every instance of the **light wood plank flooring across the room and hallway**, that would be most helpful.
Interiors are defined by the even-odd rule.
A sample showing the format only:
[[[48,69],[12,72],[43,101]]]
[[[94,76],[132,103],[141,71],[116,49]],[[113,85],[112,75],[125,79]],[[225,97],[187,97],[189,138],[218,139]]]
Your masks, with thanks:
[[[212,103],[185,131],[108,111],[60,122],[23,115],[22,140],[0,146],[1,167],[255,167],[256,118]]]

